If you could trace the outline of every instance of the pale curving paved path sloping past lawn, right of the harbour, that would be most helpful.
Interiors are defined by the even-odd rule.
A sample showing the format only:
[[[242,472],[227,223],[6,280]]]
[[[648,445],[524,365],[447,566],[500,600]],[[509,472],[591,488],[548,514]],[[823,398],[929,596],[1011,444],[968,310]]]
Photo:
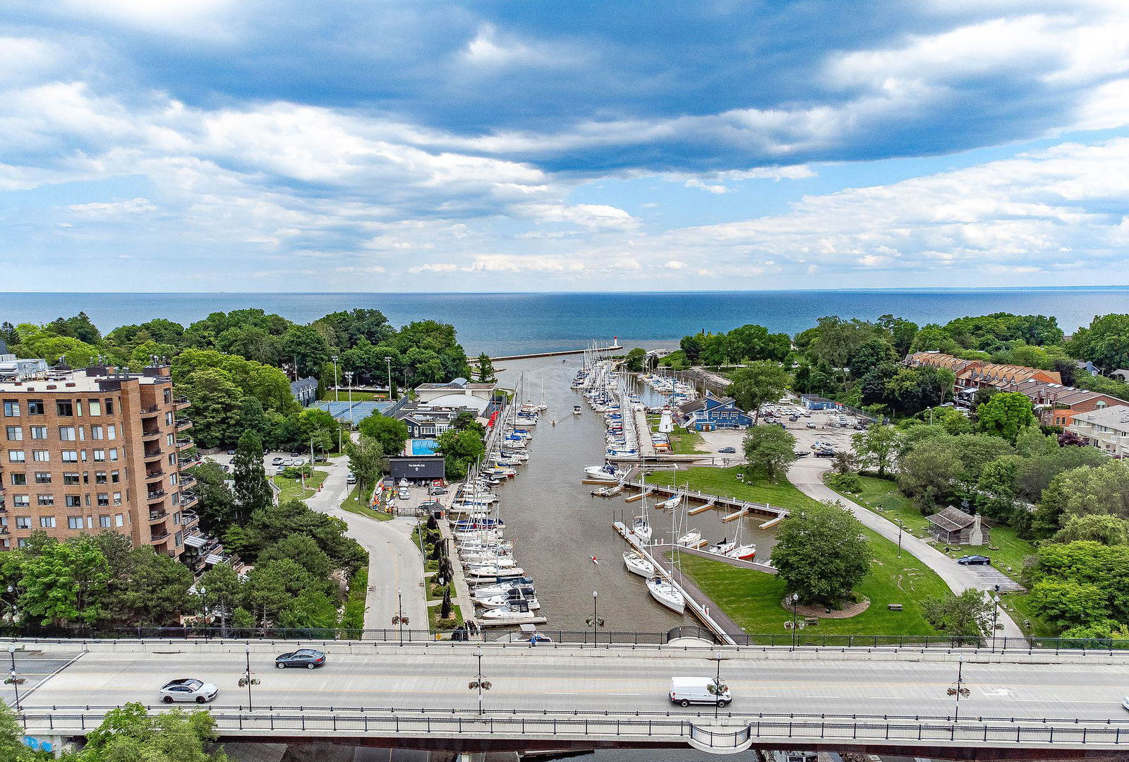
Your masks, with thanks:
[[[839,501],[855,514],[859,521],[868,529],[873,529],[886,539],[898,542],[898,525],[890,519],[878,516],[874,511],[847,500],[838,492],[823,483],[823,474],[831,468],[829,458],[799,458],[793,461],[788,469],[788,479],[808,497],[819,501]],[[977,566],[962,566],[953,558],[929,545],[925,540],[914,537],[910,532],[902,532],[902,548],[937,573],[945,585],[953,592],[960,594],[969,588],[987,591],[992,589],[991,578],[978,573]],[[999,609],[999,623],[1004,629],[998,632],[1008,638],[1023,638],[1023,631],[1012,621],[1003,607]]]

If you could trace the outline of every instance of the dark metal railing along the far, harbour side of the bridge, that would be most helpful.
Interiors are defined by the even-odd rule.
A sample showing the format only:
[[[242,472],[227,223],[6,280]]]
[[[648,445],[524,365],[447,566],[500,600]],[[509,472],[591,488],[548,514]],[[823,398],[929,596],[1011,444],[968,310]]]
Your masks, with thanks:
[[[321,643],[373,642],[373,643],[434,643],[443,641],[481,641],[481,635],[463,630],[338,630],[338,629],[285,629],[285,627],[119,627],[111,630],[33,630],[15,633],[10,629],[0,630],[5,640],[233,640],[233,641],[304,641]],[[677,638],[697,638],[720,644],[717,637],[699,626],[675,627],[666,632],[592,631],[592,630],[537,630],[539,646],[554,644],[598,648],[632,648],[664,646]],[[974,649],[984,651],[1124,651],[1129,652],[1129,640],[1110,638],[946,638],[940,635],[850,635],[815,634],[809,630],[793,634],[732,634],[737,648],[798,648],[798,649]],[[487,633],[487,642],[493,639],[515,644],[530,644],[527,635]]]

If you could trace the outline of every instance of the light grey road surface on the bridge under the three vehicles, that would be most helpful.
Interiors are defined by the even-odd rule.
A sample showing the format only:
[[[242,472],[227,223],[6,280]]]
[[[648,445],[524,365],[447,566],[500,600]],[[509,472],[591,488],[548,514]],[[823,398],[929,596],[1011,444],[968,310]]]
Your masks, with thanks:
[[[159,649],[160,647],[154,647]],[[158,702],[168,679],[198,677],[220,687],[216,705],[246,704],[237,686],[242,652],[91,652],[47,678],[24,700],[28,708],[116,705]],[[674,675],[711,676],[717,663],[701,656],[642,652],[487,650],[482,673],[492,683],[484,705],[571,712],[681,710],[666,700]],[[467,683],[478,672],[471,647],[458,649],[374,649],[368,656],[331,653],[322,669],[273,667],[273,655],[257,647],[252,669],[261,678],[254,703],[263,705],[471,709],[476,692]],[[840,660],[794,655],[727,655],[721,676],[734,702],[729,711],[948,716],[946,690],[956,681],[955,661],[918,660],[913,655],[874,655]],[[1129,663],[989,664],[965,660],[962,717],[1082,718],[1126,720],[1121,700],[1129,692]],[[724,712],[723,712],[724,713]]]

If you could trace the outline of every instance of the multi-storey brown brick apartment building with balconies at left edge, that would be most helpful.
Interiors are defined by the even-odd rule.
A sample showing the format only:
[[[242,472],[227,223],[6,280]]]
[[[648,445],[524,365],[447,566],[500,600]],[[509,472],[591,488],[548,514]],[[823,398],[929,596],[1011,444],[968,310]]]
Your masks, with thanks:
[[[0,548],[37,529],[60,539],[110,529],[180,557],[196,522],[193,478],[181,473],[187,405],[164,366],[0,380]]]

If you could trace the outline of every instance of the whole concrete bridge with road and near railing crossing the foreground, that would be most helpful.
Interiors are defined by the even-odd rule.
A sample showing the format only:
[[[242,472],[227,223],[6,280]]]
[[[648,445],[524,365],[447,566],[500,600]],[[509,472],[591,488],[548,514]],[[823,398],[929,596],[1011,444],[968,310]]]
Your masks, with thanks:
[[[303,643],[309,646],[310,643]],[[315,643],[316,644],[316,643]],[[457,751],[685,746],[833,748],[948,759],[1129,751],[1129,655],[925,648],[634,648],[527,643],[322,644],[317,670],[274,668],[294,641],[17,641],[20,721],[63,739],[198,677],[227,741],[333,741]],[[260,679],[239,687],[247,660]],[[682,709],[674,675],[718,674],[733,703]],[[968,690],[956,698],[948,691]],[[490,683],[469,689],[479,675]],[[15,703],[11,686],[5,698]],[[481,702],[481,703],[480,703]]]

